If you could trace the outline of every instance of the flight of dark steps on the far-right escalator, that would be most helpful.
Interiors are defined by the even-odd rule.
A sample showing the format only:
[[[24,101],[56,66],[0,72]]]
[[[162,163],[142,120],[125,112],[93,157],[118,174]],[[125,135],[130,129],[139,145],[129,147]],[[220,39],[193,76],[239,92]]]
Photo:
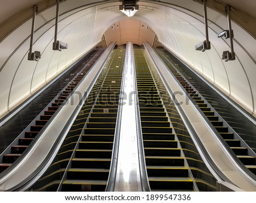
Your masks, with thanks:
[[[196,102],[201,111],[207,116],[209,122],[216,128],[217,132],[221,135],[224,141],[228,144],[230,149],[236,154],[237,158],[241,160],[241,162],[247,167],[253,174],[256,175],[256,159],[247,154],[247,148],[241,146],[240,139],[234,138],[234,133],[229,132],[228,126],[223,124],[223,121],[220,120],[220,117],[216,115],[214,111],[210,109],[207,103],[204,102],[204,98],[201,98],[197,93],[195,87],[192,87],[191,84],[187,81],[187,79],[177,71],[176,67],[171,64],[170,60],[168,60],[166,54],[162,52],[162,50],[156,49],[156,53],[158,53],[159,57],[162,59],[164,64],[171,70],[172,74],[174,74],[177,81],[184,87],[184,89],[188,92],[191,98]]]

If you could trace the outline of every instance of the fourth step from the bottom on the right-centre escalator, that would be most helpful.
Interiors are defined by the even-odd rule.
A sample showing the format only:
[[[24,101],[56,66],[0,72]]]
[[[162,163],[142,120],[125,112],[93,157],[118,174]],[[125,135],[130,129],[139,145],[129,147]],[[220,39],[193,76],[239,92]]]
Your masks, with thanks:
[[[179,148],[157,148],[157,147],[144,147],[145,156],[172,156],[179,157]]]

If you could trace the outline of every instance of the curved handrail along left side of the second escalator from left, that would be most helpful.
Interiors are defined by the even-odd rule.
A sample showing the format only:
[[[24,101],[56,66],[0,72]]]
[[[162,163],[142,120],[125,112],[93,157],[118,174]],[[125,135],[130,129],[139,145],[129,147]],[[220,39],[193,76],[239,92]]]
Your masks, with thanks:
[[[112,52],[114,48],[114,44],[110,44],[109,48],[105,50],[105,52],[109,52],[108,56],[105,58],[105,61],[103,62],[103,65],[101,65],[100,69],[97,71],[97,77],[98,74],[100,74],[102,68],[104,67],[106,61],[108,60],[108,57],[110,53]],[[109,50],[110,49],[110,50]],[[91,71],[93,67],[89,70]],[[88,73],[89,73],[88,71]],[[96,82],[97,77],[93,78],[93,81],[90,83],[88,89],[89,91],[92,90],[92,87],[94,83]],[[83,78],[84,79],[84,78]],[[79,86],[76,86],[75,89],[77,89]],[[88,92],[89,93],[89,92]],[[44,158],[43,162],[39,165],[38,168],[34,172],[32,172],[26,179],[22,180],[19,184],[15,185],[15,187],[7,189],[7,191],[24,191],[28,187],[30,187],[32,184],[35,183],[36,180],[39,179],[41,175],[46,172],[47,168],[49,167],[49,164],[51,164],[52,160],[55,158],[57,151],[59,150],[61,143],[64,141],[65,135],[67,134],[68,130],[71,128],[73,121],[75,120],[76,115],[79,113],[80,109],[82,108],[82,105],[84,101],[86,100],[88,94],[85,94],[81,99],[77,107],[75,108],[75,111],[73,111],[72,115],[69,117],[67,123],[64,125],[64,128],[61,130],[61,133],[57,137],[56,141],[53,143],[53,146],[51,147],[51,150],[47,154],[46,158]]]

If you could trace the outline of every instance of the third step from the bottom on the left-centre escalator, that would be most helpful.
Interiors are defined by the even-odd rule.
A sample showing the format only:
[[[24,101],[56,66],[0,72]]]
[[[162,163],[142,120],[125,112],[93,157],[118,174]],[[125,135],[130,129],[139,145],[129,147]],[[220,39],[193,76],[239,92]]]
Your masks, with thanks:
[[[74,158],[72,159],[71,167],[73,168],[110,168],[111,159],[102,159],[102,158]]]

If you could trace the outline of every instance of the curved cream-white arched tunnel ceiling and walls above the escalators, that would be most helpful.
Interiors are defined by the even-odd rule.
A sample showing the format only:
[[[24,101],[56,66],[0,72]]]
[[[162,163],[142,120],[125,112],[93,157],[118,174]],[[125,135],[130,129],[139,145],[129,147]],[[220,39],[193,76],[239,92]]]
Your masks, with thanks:
[[[93,4],[95,2],[97,3]],[[245,0],[240,6],[240,1],[208,0],[208,26],[212,49],[198,52],[195,51],[195,44],[205,40],[203,6],[199,2],[193,0],[138,1],[139,11],[129,19],[119,11],[121,2],[118,1],[63,1],[60,4],[58,37],[61,41],[68,43],[69,48],[56,52],[52,50],[56,10],[53,5],[56,1],[5,1],[2,4],[4,6],[0,8],[2,11],[0,39],[3,39],[0,43],[0,81],[3,90],[0,93],[0,115],[5,115],[83,53],[97,45],[104,33],[106,39],[114,40],[115,35],[111,34],[113,24],[123,24],[119,28],[121,33],[119,37],[122,37],[127,33],[125,28],[131,25],[131,22],[134,22],[133,27],[143,22],[150,28],[148,29],[150,35],[146,30],[141,30],[142,27],[134,29],[134,32],[131,31],[129,36],[134,35],[135,41],[138,40],[140,43],[152,40],[155,33],[160,43],[254,115],[256,40],[250,33],[256,32],[255,27],[250,25],[255,22],[255,3]],[[229,41],[216,37],[216,33],[227,28],[226,16],[223,15],[225,3],[233,6],[232,19],[237,22],[232,23],[237,60],[230,62],[221,60],[222,52],[230,49]],[[27,61],[34,4],[39,6],[40,11],[36,15],[33,48],[42,52],[39,62]],[[14,29],[19,24],[20,26]],[[10,32],[11,30],[13,32]],[[142,31],[144,36],[138,36],[138,30]],[[114,33],[117,34],[118,31],[115,30]],[[5,35],[4,38],[3,35]],[[115,41],[118,41],[118,37]],[[123,41],[126,41],[125,37]],[[120,44],[123,41],[120,39]]]

